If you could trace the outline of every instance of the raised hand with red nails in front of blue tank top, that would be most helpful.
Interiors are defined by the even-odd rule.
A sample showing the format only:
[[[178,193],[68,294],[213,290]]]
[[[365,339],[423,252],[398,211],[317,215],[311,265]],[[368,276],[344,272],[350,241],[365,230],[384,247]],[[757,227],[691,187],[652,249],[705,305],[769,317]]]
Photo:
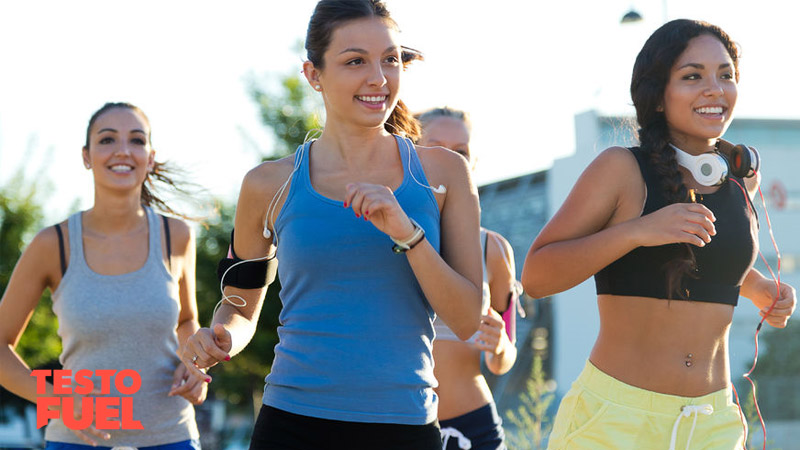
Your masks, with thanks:
[[[414,225],[388,187],[350,183],[346,189],[344,207],[352,208],[356,217],[369,220],[375,228],[395,239],[406,239],[414,233]]]

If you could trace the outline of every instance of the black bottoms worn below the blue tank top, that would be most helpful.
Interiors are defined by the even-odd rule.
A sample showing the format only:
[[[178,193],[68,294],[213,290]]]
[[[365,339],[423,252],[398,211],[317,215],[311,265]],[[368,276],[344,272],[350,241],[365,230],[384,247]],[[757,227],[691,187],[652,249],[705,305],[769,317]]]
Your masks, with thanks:
[[[439,423],[344,422],[292,414],[263,405],[250,450],[441,450]]]

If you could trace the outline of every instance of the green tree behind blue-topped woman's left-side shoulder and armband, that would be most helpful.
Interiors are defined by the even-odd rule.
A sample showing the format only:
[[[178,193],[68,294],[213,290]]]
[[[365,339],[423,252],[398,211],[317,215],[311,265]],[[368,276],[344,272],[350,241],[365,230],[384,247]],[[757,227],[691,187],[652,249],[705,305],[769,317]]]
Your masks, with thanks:
[[[262,153],[262,160],[279,159],[293,153],[309,131],[321,127],[317,116],[311,112],[315,103],[310,91],[299,77],[281,77],[277,93],[264,87],[269,81],[251,81],[249,88],[251,98],[259,107],[262,123],[275,141],[271,152]],[[235,216],[233,205],[218,204],[217,214],[208,219],[197,239],[197,303],[201,318],[210,318],[220,301],[217,262],[227,253]],[[271,368],[278,343],[279,291],[280,280],[275,280],[267,292],[256,333],[245,350],[212,369],[214,395],[239,409],[258,408],[261,404],[264,376]],[[201,321],[201,325],[208,323]]]

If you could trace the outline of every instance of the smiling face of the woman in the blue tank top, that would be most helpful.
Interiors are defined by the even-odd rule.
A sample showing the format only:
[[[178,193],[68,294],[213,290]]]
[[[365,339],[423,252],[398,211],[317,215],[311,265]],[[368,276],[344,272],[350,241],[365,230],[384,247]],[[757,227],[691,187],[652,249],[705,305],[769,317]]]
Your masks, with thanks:
[[[328,125],[383,126],[397,105],[403,68],[394,26],[377,17],[343,22],[323,62],[321,68],[306,62],[304,73],[312,86],[320,86]]]

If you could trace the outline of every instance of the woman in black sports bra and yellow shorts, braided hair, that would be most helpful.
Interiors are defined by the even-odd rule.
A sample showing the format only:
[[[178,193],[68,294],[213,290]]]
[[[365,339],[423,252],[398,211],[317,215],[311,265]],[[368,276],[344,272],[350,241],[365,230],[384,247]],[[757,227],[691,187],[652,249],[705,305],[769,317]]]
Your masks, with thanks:
[[[528,252],[528,294],[592,275],[598,293],[600,332],[561,403],[552,449],[743,444],[730,391],[733,308],[741,295],[764,315],[778,291],[753,269],[758,223],[744,188],[752,196],[757,177],[704,186],[676,159],[715,151],[733,117],[738,56],[704,22],[654,32],[631,81],[641,146],[602,152]],[[795,304],[781,285],[766,321],[786,326]]]

